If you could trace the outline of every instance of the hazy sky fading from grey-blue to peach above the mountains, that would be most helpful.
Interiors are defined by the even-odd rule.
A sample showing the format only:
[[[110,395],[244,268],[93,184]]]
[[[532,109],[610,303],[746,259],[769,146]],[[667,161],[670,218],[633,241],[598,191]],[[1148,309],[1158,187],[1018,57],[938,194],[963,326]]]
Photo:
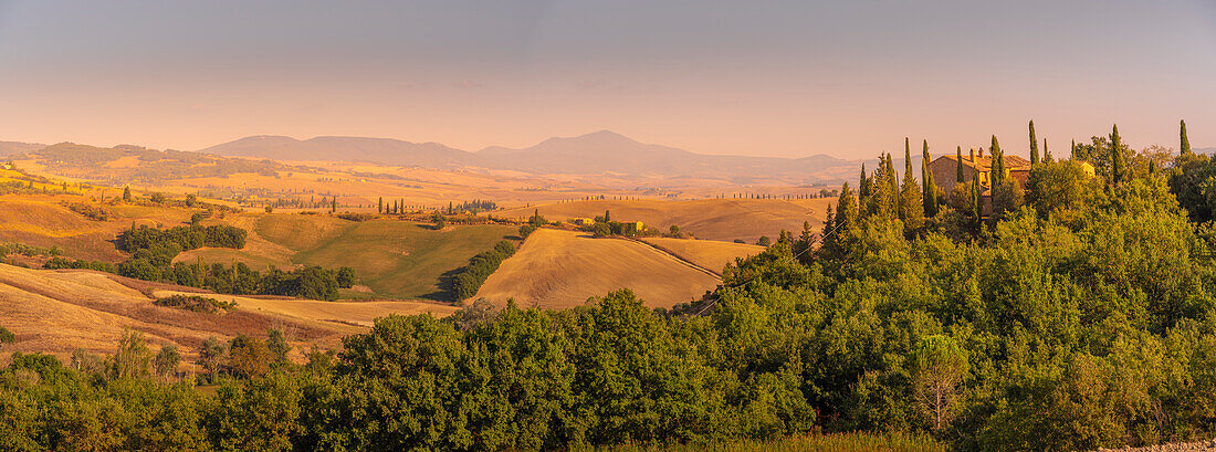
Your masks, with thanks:
[[[1216,146],[1216,0],[0,0],[0,140]]]

